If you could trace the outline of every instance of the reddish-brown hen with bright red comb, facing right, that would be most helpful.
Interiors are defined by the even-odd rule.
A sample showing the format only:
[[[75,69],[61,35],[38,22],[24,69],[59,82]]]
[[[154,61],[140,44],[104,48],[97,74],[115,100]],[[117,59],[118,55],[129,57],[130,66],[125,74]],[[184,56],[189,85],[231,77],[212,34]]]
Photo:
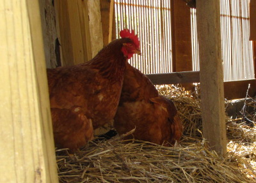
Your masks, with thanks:
[[[113,121],[127,59],[140,54],[133,31],[121,31],[120,36],[89,62],[47,70],[54,139],[59,147],[79,148],[92,139],[93,128]],[[77,107],[84,115],[74,111]]]

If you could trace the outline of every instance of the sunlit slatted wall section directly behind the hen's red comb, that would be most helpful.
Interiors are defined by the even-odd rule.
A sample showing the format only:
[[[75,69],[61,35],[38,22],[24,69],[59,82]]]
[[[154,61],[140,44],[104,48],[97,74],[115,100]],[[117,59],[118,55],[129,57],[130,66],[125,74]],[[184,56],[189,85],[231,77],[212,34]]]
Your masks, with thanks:
[[[142,56],[129,61],[143,73],[172,72],[171,3],[161,0],[115,0],[116,35],[122,29],[139,34]]]

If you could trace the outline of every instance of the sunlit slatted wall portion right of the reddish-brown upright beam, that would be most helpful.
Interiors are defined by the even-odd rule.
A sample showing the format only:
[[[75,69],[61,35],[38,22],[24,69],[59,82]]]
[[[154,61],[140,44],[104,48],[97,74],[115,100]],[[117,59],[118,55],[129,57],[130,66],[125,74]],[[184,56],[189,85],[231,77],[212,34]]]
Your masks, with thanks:
[[[255,78],[253,43],[249,41],[248,0],[221,0],[221,47],[224,81]],[[199,70],[196,10],[191,9],[193,70]]]

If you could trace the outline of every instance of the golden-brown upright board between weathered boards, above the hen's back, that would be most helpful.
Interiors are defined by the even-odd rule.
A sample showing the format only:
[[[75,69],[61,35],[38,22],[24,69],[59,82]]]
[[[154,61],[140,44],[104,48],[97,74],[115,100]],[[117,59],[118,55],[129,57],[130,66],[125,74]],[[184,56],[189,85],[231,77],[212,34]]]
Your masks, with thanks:
[[[70,66],[92,59],[87,1],[54,1],[62,65]]]

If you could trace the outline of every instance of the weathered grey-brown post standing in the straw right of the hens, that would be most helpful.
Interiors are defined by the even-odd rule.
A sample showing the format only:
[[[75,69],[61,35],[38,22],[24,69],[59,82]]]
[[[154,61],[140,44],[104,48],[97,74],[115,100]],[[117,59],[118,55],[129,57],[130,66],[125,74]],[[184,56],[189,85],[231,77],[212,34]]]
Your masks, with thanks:
[[[219,154],[227,151],[220,0],[196,1],[204,137]]]

